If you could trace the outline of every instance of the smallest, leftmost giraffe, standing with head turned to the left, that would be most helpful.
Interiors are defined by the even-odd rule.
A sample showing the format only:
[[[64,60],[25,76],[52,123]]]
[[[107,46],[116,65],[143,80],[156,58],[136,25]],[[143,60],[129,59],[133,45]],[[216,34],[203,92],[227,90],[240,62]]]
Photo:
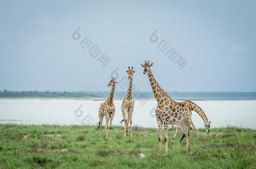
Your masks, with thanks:
[[[115,84],[118,83],[115,81],[115,78],[111,78],[110,83],[108,83],[108,87],[112,86],[112,89],[110,91],[110,94],[107,98],[107,100],[104,103],[101,103],[99,106],[99,123],[97,124],[97,130],[100,127],[100,139],[102,139],[102,121],[103,117],[105,116],[106,118],[106,139],[108,139],[108,124],[110,120],[110,139],[111,139],[111,129],[112,129],[112,120],[115,115],[115,105],[113,102],[113,96],[114,96],[114,91],[115,91]]]

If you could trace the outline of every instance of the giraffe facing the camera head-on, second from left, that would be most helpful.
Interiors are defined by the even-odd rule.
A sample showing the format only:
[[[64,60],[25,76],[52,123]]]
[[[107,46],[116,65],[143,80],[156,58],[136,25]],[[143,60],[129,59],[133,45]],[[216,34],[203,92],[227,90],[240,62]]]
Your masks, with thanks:
[[[125,125],[125,131],[123,136],[128,135],[128,125],[129,125],[129,121],[130,121],[130,135],[133,136],[132,133],[132,116],[133,116],[133,108],[134,108],[134,99],[133,99],[133,95],[132,95],[132,88],[133,88],[133,73],[135,71],[133,71],[133,67],[128,67],[128,71],[126,71],[128,73],[128,79],[130,80],[130,84],[129,84],[129,89],[126,93],[125,98],[122,101],[122,105],[121,105],[121,110],[122,110],[122,114],[123,114],[123,120],[124,121],[124,125]],[[127,114],[127,117],[126,117]],[[122,122],[121,121],[121,122]]]

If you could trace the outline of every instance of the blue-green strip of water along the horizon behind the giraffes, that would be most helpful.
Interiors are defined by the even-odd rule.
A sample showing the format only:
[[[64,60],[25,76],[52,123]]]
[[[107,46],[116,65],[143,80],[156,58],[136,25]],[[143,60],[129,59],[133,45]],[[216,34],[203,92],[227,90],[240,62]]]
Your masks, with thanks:
[[[109,92],[92,92],[94,96],[107,98]],[[256,92],[169,92],[174,100],[256,100]],[[123,99],[126,92],[115,92],[114,98]],[[153,93],[133,93],[134,98],[154,99]]]

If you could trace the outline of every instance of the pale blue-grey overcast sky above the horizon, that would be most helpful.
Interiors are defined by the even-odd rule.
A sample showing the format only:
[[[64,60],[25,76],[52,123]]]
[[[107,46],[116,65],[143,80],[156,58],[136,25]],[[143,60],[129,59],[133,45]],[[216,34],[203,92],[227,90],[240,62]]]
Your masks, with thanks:
[[[111,77],[127,79],[128,66],[135,86],[149,86],[139,66],[149,60],[163,88],[256,91],[255,6],[254,0],[1,1],[0,90],[97,90]],[[169,50],[176,54],[168,58]]]

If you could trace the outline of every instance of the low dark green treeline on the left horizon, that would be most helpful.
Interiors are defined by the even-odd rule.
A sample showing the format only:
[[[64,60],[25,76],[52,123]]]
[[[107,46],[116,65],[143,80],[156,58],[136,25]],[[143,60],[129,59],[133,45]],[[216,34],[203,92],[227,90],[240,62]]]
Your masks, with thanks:
[[[97,96],[79,92],[50,91],[0,91],[0,98],[95,98]]]

